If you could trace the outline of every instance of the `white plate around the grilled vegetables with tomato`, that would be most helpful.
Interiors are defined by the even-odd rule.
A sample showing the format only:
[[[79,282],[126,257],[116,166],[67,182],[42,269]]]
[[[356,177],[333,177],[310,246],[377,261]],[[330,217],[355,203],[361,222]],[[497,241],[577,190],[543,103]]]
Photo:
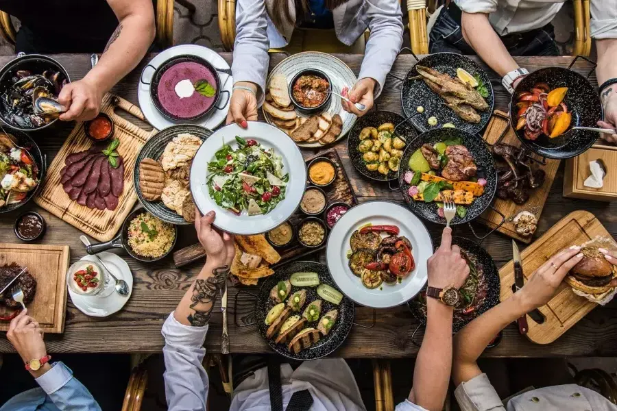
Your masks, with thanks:
[[[362,285],[360,278],[349,268],[347,252],[351,249],[349,240],[356,229],[372,225],[396,225],[400,236],[411,242],[415,269],[400,284],[385,284],[370,290]],[[406,303],[422,290],[428,279],[426,262],[433,255],[433,242],[426,227],[407,208],[387,201],[370,201],[351,208],[337,221],[326,248],[326,260],[332,278],[343,294],[371,308],[389,308]]]

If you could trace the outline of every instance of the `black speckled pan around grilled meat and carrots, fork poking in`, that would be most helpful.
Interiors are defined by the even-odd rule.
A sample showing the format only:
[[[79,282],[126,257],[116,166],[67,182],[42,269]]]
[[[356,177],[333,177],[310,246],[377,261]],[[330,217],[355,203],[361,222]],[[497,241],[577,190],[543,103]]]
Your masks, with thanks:
[[[485,178],[487,184],[484,187],[484,194],[480,197],[475,197],[471,206],[466,206],[467,215],[465,215],[462,219],[459,216],[455,216],[455,218],[450,221],[450,225],[472,221],[491,205],[493,198],[495,197],[495,191],[497,190],[497,169],[493,155],[489,151],[488,147],[486,147],[482,138],[453,128],[433,129],[426,133],[422,133],[418,136],[418,138],[407,145],[407,149],[405,149],[403,153],[398,172],[398,184],[400,184],[403,199],[407,202],[407,205],[411,208],[411,211],[428,221],[433,221],[433,223],[446,224],[446,219],[442,219],[439,215],[437,215],[437,204],[425,203],[424,201],[415,201],[411,199],[411,197],[409,197],[409,193],[407,192],[409,189],[409,184],[404,182],[403,177],[405,175],[405,171],[409,170],[409,159],[411,158],[411,155],[425,142],[434,145],[439,141],[452,140],[459,137],[463,140],[463,145],[467,147],[476,162],[476,166],[478,166],[477,177]]]

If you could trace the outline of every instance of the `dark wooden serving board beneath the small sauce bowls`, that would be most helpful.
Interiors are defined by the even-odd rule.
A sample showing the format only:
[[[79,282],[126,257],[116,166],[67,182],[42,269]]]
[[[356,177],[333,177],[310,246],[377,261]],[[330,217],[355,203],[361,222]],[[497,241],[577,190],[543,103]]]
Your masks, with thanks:
[[[348,203],[350,206],[355,206],[358,203],[356,199],[356,195],[354,194],[354,190],[352,188],[349,177],[347,177],[347,173],[345,169],[343,169],[343,162],[341,162],[341,158],[339,158],[339,154],[337,150],[332,148],[326,151],[322,151],[317,153],[309,158],[306,158],[304,162],[308,165],[312,160],[317,157],[326,157],[335,162],[337,164],[337,177],[335,182],[330,184],[328,187],[322,187],[324,192],[326,192],[326,199],[328,201],[328,206],[331,203]],[[307,183],[310,184],[310,183]],[[327,207],[327,206],[326,206]],[[317,217],[322,218],[323,214],[317,215]],[[289,218],[289,222],[293,227],[297,227],[300,220],[307,217],[302,211],[298,210],[291,215]],[[287,262],[291,262],[293,260],[298,260],[298,258],[308,256],[311,253],[315,253],[315,251],[319,251],[326,248],[326,242],[322,247],[317,247],[315,249],[309,249],[302,245],[300,245],[295,240],[291,243],[289,247],[284,249],[277,249],[280,253],[280,262],[275,264],[279,266],[281,264],[285,264]],[[186,264],[190,264],[191,262],[197,261],[200,258],[204,258],[206,253],[204,252],[204,248],[201,244],[193,244],[189,245],[189,247],[184,247],[173,253],[173,264],[176,265],[176,268],[180,268],[181,266],[185,266]]]

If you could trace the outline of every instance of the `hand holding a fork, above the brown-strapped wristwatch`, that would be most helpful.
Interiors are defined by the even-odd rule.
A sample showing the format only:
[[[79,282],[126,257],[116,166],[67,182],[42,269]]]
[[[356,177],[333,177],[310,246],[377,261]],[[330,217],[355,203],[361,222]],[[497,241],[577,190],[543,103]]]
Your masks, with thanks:
[[[435,288],[461,288],[469,275],[469,266],[458,245],[452,245],[452,229],[444,228],[439,249],[428,259],[428,285]]]

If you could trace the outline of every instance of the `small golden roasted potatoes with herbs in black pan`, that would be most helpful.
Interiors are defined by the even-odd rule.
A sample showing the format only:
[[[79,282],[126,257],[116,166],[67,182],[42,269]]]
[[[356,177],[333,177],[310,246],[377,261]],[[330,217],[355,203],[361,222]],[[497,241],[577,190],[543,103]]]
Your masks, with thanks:
[[[394,124],[383,123],[379,127],[364,127],[360,132],[358,151],[368,171],[388,175],[396,173],[406,142],[394,134]]]

